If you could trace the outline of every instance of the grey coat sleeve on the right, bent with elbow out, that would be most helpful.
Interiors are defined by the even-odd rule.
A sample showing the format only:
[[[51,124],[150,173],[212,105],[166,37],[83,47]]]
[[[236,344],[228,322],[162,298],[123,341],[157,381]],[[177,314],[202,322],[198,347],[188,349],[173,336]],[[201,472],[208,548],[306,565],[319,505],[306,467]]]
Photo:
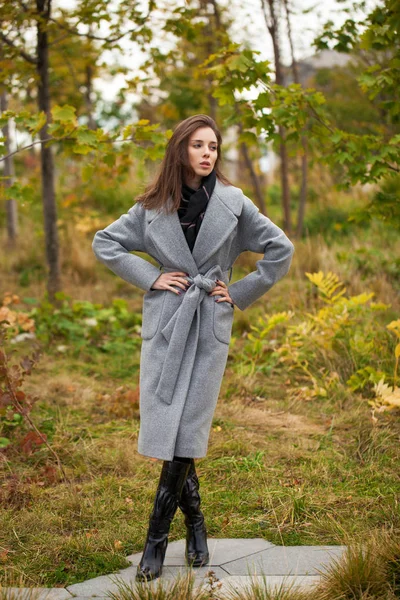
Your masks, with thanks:
[[[245,310],[289,271],[294,245],[284,231],[263,215],[250,198],[244,196],[239,217],[240,252],[264,254],[257,269],[228,286],[233,302]]]

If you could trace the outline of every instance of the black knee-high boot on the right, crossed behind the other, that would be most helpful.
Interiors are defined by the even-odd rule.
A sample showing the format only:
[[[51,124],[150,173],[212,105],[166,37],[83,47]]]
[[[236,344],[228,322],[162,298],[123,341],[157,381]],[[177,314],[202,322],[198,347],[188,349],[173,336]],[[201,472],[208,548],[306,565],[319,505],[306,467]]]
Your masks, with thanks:
[[[204,515],[200,510],[199,479],[194,459],[182,489],[178,506],[185,515],[186,525],[186,561],[192,567],[201,567],[209,562],[207,529]]]

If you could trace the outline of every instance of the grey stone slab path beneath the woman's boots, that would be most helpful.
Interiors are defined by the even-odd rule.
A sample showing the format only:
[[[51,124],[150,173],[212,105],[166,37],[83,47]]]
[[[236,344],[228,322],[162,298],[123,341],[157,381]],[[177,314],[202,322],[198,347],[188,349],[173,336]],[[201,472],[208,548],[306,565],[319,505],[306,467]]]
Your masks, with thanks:
[[[283,585],[305,588],[320,581],[320,573],[334,560],[338,560],[346,546],[275,546],[262,538],[216,539],[208,538],[210,562],[205,567],[193,569],[195,585],[206,584],[208,572],[221,582],[218,595],[231,589],[247,589],[251,581],[263,580],[270,586]],[[110,598],[107,592],[118,593],[115,581],[136,585],[136,567],[142,552],[127,559],[131,567],[110,575],[101,575],[66,588],[3,588],[2,597],[15,600],[88,600]],[[185,575],[185,540],[170,542],[165,555],[161,580],[173,580],[178,573]],[[148,585],[157,585],[159,579]],[[140,585],[140,584],[139,584]],[[167,584],[168,585],[168,584]],[[206,586],[205,586],[206,587]],[[34,595],[33,595],[34,594]]]

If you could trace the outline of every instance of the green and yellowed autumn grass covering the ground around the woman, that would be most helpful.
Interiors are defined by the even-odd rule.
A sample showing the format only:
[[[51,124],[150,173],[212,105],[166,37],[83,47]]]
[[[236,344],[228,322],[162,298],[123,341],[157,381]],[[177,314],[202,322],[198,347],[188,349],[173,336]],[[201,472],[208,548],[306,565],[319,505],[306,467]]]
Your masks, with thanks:
[[[398,535],[398,413],[382,413],[373,423],[370,408],[359,394],[338,387],[326,398],[305,399],[301,378],[297,390],[289,387],[284,373],[241,373],[234,356],[243,348],[249,324],[265,310],[312,310],[315,298],[308,291],[305,271],[333,270],[352,294],[372,289],[376,301],[390,303],[393,314],[398,314],[397,279],[390,269],[372,273],[364,269],[361,276],[358,264],[341,258],[344,250],[351,256],[360,244],[370,248],[378,245],[382,231],[378,224],[374,227],[363,232],[362,241],[356,235],[346,236],[345,248],[337,242],[327,249],[318,236],[298,242],[290,276],[248,311],[237,311],[235,341],[214,415],[209,451],[197,461],[210,537],[263,537],[290,546],[350,544],[386,531]],[[385,264],[395,255],[396,243],[387,245]],[[26,263],[22,258],[28,252],[27,233],[15,255],[3,258],[0,269],[7,275],[2,291],[11,290],[21,298],[40,298],[44,281],[31,278],[25,285],[27,279],[21,283],[14,271],[18,264]],[[82,251],[79,256],[81,262],[90,264]],[[235,265],[235,278],[249,272],[255,258],[243,255]],[[139,292],[133,292],[131,286],[100,265],[95,266],[94,259],[91,268],[96,272],[94,281],[79,280],[78,276],[66,279],[64,289],[71,297],[107,303],[117,296],[128,301],[130,310],[140,310]],[[43,447],[28,456],[13,449],[0,454],[3,585],[24,585],[23,581],[28,586],[64,587],[128,567],[126,556],[143,549],[160,462],[141,456],[136,449],[137,337],[130,345],[128,360],[123,347],[100,352],[83,346],[74,353],[73,348],[59,352],[53,344],[26,381],[26,389],[40,396],[32,416],[46,432],[71,483],[60,479],[53,458]],[[22,354],[27,348],[21,345],[17,352]],[[183,516],[177,513],[169,539],[183,537]],[[397,546],[374,543],[375,557],[385,557],[385,547],[392,548],[393,589],[397,589],[393,593],[399,594]],[[371,567],[372,555],[366,560],[364,569],[359,555],[352,555],[348,561],[353,571],[342,565],[331,575],[330,583],[326,580],[325,588],[313,596],[254,588],[247,596],[232,598],[399,597],[390,596],[387,566],[382,567],[386,574],[378,587],[364,589],[354,583],[355,591],[348,591],[353,588],[347,582],[356,581],[357,574],[365,581],[378,581],[380,575]],[[382,558],[385,565],[390,560]],[[179,585],[183,591],[159,590],[146,596],[150,592],[125,590],[118,598],[202,599],[184,588],[187,582]],[[213,598],[211,594],[217,591],[206,593],[204,598]]]

